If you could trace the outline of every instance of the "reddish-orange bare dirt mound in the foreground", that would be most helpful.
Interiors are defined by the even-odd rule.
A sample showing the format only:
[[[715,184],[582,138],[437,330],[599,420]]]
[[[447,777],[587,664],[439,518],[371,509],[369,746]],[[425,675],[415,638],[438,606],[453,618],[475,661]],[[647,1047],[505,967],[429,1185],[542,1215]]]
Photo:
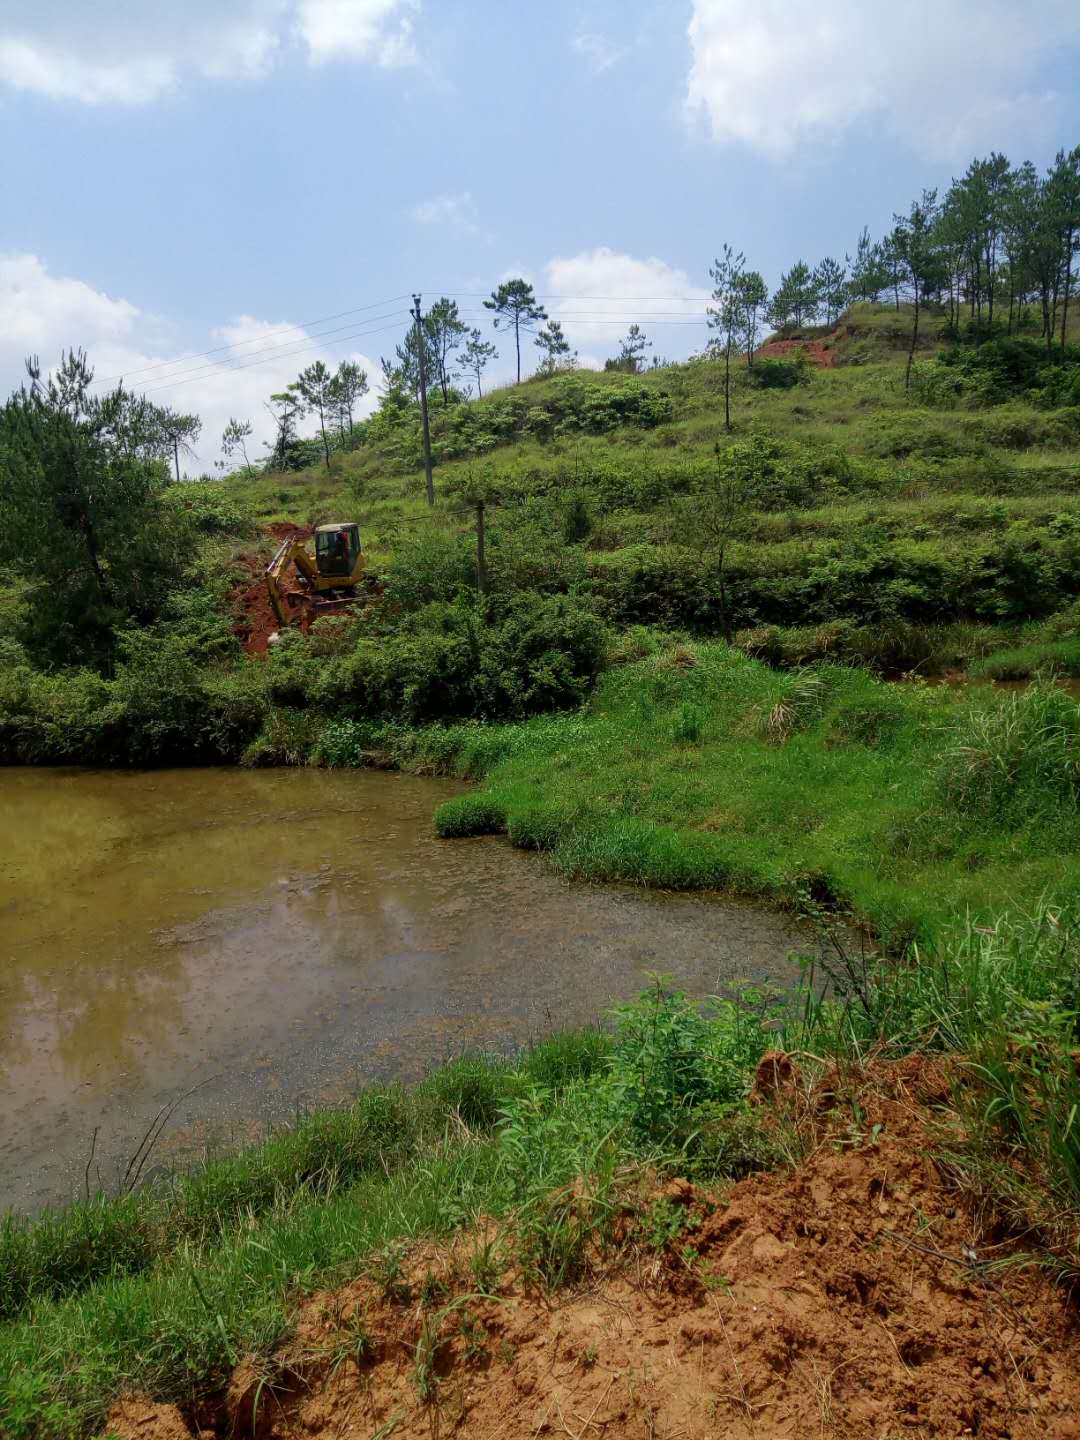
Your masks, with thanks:
[[[763,1106],[802,1084],[778,1060],[760,1079]],[[668,1184],[654,1211],[681,1234],[657,1251],[636,1228],[569,1296],[513,1266],[474,1293],[491,1234],[419,1248],[395,1286],[310,1302],[276,1367],[242,1367],[203,1423],[259,1440],[1074,1440],[1077,1313],[1040,1272],[995,1263],[1007,1247],[929,1158],[945,1090],[917,1063],[870,1092],[834,1077],[795,1116],[799,1166],[726,1197]],[[160,1414],[120,1433],[176,1440]]]

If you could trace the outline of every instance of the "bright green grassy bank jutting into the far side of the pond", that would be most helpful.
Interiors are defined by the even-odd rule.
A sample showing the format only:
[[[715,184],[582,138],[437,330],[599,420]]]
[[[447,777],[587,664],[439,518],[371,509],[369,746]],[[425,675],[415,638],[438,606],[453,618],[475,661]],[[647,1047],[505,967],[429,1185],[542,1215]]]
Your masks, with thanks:
[[[445,835],[505,828],[567,876],[809,891],[893,949],[958,913],[1080,891],[1080,706],[1056,687],[776,674],[720,642],[658,642],[582,711],[402,734],[400,763],[482,778]]]

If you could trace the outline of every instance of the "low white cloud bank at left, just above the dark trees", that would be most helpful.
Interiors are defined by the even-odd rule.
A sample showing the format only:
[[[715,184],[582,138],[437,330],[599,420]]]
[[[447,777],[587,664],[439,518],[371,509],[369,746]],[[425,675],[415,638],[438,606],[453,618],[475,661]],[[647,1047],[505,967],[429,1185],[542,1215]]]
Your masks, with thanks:
[[[62,348],[82,347],[99,387],[122,376],[127,389],[147,395],[156,405],[202,418],[203,433],[192,462],[196,472],[209,469],[217,458],[222,431],[233,415],[255,428],[251,456],[264,454],[262,442],[274,435],[264,402],[312,360],[331,367],[344,359],[356,360],[367,370],[373,389],[379,376],[377,363],[350,348],[347,330],[344,344],[337,337],[321,343],[287,320],[240,315],[206,337],[206,350],[229,346],[228,353],[193,353],[177,360],[158,348],[161,328],[158,317],[125,300],[79,279],[50,275],[35,255],[0,255],[0,392],[6,395],[22,383],[27,354],[39,354],[49,367],[59,361]],[[356,328],[364,328],[363,323]],[[374,396],[369,396],[361,409],[366,413],[373,406]]]

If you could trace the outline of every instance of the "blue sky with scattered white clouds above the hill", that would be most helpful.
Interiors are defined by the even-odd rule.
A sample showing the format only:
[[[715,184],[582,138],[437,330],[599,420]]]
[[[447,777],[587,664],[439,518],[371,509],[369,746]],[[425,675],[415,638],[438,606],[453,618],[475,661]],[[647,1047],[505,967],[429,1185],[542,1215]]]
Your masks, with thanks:
[[[634,321],[680,359],[724,242],[773,284],[973,154],[1045,167],[1080,4],[0,0],[0,389],[81,346],[202,415],[199,472],[315,359],[374,386],[413,292],[495,341],[492,383],[511,275],[582,364]]]

